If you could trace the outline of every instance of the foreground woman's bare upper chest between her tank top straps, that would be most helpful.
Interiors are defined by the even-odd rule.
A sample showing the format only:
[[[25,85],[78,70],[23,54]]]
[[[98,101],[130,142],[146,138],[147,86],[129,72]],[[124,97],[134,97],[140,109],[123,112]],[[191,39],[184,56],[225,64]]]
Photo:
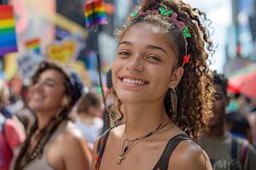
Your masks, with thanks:
[[[164,144],[141,142],[132,145],[124,154],[122,144],[111,144],[104,151],[100,169],[153,169],[164,148]]]

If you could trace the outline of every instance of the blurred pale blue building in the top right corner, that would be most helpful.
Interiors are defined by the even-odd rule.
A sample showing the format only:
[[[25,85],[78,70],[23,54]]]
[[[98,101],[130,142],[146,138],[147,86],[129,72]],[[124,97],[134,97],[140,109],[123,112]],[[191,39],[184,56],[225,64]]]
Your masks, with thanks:
[[[226,44],[224,73],[230,75],[256,61],[255,0],[232,0],[232,26]]]

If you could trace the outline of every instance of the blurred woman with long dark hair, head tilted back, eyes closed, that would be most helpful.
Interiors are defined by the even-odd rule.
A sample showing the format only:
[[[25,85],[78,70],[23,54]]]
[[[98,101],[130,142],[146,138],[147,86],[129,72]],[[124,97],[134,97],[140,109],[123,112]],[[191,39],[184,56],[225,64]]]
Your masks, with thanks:
[[[61,65],[44,61],[32,77],[28,106],[35,112],[25,143],[11,169],[90,168],[90,149],[69,112],[84,92],[83,83]]]

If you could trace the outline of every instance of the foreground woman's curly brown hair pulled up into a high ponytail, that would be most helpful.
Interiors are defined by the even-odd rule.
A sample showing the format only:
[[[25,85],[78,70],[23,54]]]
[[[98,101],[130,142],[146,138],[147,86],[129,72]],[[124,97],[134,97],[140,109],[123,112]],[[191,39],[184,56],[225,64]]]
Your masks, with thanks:
[[[189,27],[190,38],[183,36],[181,31],[164,14],[146,14],[143,16],[130,16],[122,28],[117,30],[116,36],[120,40],[124,32],[137,23],[147,23],[157,26],[161,31],[166,32],[170,40],[170,45],[177,55],[177,67],[183,64],[183,55],[190,54],[189,64],[184,65],[184,73],[181,82],[177,86],[177,124],[194,139],[198,139],[206,130],[209,119],[212,117],[212,75],[209,71],[209,53],[214,53],[212,41],[209,38],[209,31],[205,24],[206,14],[198,8],[191,8],[188,3],[181,0],[144,0],[137,11],[146,12],[160,7],[172,9],[177,13],[177,20]],[[187,42],[187,45],[186,45]],[[187,49],[186,49],[187,48]],[[174,69],[174,68],[170,68]],[[164,104],[167,115],[172,117],[171,89],[168,89]],[[115,93],[110,93],[115,94]],[[117,96],[116,108],[120,108],[122,102]],[[122,114],[122,113],[121,113]]]

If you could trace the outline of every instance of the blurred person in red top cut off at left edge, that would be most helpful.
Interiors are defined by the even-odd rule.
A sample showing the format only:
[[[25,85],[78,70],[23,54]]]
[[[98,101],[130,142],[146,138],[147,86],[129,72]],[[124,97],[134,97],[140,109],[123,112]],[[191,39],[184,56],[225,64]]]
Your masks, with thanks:
[[[3,82],[0,82],[0,105],[6,105],[6,90]],[[9,170],[10,161],[15,149],[25,140],[25,133],[11,115],[0,112],[0,170]]]

